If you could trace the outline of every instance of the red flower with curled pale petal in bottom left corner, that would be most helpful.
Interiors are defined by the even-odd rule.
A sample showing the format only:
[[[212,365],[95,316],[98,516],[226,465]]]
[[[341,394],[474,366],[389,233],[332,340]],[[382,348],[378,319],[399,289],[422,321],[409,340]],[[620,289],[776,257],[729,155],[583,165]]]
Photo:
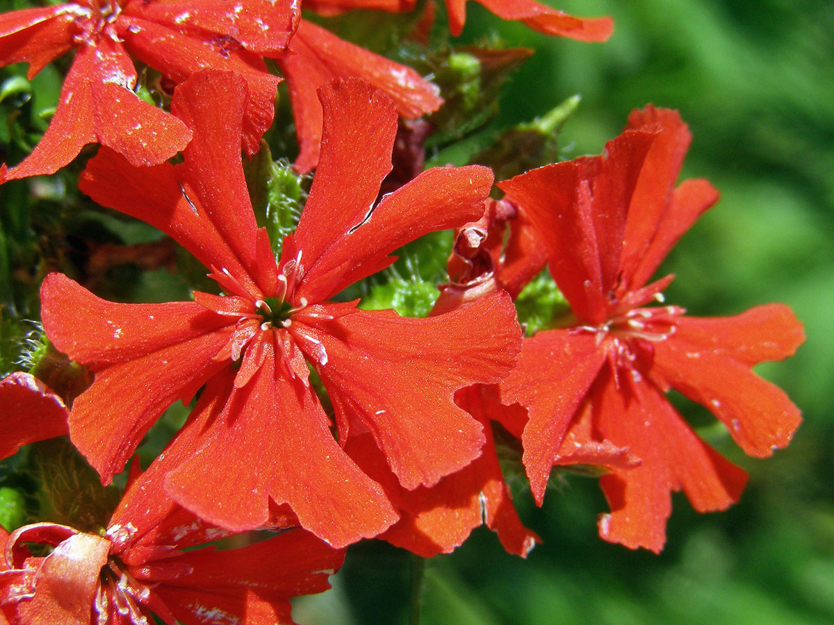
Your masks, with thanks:
[[[289,598],[329,588],[344,552],[303,530],[249,547],[195,549],[229,535],[162,489],[159,465],[128,487],[106,528],[0,527],[0,622],[10,625],[292,623]],[[27,543],[53,546],[33,557]]]

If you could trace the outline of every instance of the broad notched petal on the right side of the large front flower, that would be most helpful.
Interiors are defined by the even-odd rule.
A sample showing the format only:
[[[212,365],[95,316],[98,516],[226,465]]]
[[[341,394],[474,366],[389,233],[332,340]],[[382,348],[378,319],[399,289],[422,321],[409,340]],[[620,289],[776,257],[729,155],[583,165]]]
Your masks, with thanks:
[[[319,372],[339,423],[373,433],[409,489],[435,484],[479,456],[482,428],[455,405],[455,391],[497,382],[520,349],[515,308],[503,292],[431,318],[357,311],[318,328],[294,318],[290,331]]]

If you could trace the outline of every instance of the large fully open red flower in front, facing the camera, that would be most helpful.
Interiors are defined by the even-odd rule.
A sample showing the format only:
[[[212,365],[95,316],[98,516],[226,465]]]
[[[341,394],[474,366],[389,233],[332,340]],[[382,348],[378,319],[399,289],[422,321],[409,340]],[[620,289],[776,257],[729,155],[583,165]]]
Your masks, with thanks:
[[[339,441],[371,433],[399,483],[416,488],[479,455],[480,423],[453,395],[508,373],[520,333],[500,294],[430,319],[328,301],[387,267],[404,243],[473,218],[492,175],[436,168],[375,204],[391,167],[394,109],[356,81],[337,82],[321,98],[322,157],[277,266],[240,164],[245,83],[202,73],[173,99],[194,133],[182,165],[131,168],[103,149],[81,188],[182,243],[229,294],[115,304],[51,274],[41,296],[49,338],[96,372],[73,403],[70,436],[105,481],[168,405],[209,381],[213,403],[185,428],[192,456],[168,474],[168,492],[231,529],[263,524],[269,498],[288,502],[303,527],[340,546],[383,531],[397,515],[333,438],[308,363],[334,405]]]

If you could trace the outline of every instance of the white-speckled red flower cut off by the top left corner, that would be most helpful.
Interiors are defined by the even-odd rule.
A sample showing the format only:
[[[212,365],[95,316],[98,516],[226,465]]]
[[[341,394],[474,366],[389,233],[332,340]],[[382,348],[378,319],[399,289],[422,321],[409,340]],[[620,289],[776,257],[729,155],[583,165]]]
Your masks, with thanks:
[[[299,16],[289,0],[78,0],[0,15],[0,67],[27,61],[33,77],[75,50],[47,132],[17,167],[0,168],[0,182],[54,173],[86,143],[113,148],[137,166],[182,150],[191,133],[133,92],[128,54],[174,82],[203,67],[239,72],[250,93],[244,147],[254,153],[272,122],[280,81],[261,57],[284,50]]]

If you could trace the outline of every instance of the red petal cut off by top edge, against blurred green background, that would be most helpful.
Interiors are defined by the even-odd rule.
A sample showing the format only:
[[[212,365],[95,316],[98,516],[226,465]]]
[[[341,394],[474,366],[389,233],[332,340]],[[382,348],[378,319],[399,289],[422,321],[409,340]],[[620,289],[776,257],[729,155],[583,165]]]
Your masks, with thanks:
[[[446,2],[448,6],[450,0]],[[544,32],[545,35],[570,37],[584,42],[603,42],[614,31],[614,22],[611,18],[575,18],[539,2],[532,2],[532,0],[476,0],[476,2],[485,6],[499,18],[519,20],[535,31]],[[450,11],[450,16],[451,13],[452,11]],[[455,37],[460,35],[463,26],[462,18],[461,12],[460,26],[457,20],[450,18],[450,29]]]

